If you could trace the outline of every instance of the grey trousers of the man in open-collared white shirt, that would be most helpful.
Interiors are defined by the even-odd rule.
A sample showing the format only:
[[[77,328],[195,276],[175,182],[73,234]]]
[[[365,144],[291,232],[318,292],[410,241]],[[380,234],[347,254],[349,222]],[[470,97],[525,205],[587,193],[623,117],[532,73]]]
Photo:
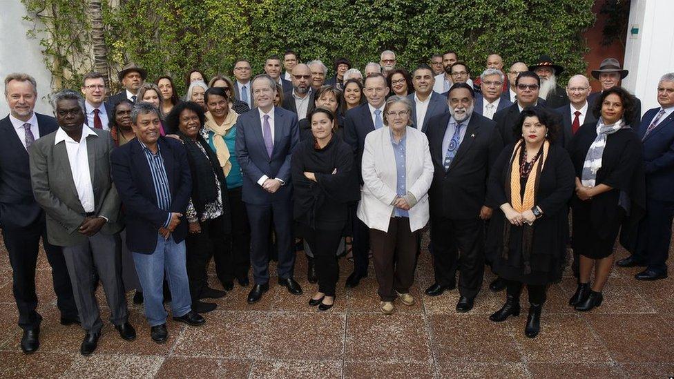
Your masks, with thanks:
[[[97,333],[103,327],[94,293],[93,280],[96,274],[106,293],[110,322],[115,325],[124,324],[128,320],[128,311],[117,238],[97,233],[89,237],[85,244],[64,247],[63,252],[82,328],[88,333]]]

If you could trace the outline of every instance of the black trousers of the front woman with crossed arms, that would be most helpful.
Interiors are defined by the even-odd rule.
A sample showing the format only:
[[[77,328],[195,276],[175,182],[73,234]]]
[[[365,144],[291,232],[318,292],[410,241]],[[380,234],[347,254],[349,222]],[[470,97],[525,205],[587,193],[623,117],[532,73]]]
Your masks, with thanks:
[[[306,229],[305,240],[314,253],[316,276],[318,276],[318,292],[326,296],[335,295],[335,287],[339,279],[337,248],[342,240],[342,231],[324,231]]]

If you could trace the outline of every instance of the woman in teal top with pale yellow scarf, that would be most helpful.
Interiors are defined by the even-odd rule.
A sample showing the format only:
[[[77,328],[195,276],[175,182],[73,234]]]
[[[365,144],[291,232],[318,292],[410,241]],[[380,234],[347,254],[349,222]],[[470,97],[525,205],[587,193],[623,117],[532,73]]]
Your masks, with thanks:
[[[236,160],[234,141],[236,139],[235,113],[229,103],[229,95],[223,88],[213,87],[206,90],[204,102],[209,111],[206,113],[204,139],[209,143],[227,182],[229,209],[231,210],[231,235],[226,238],[225,262],[215,261],[215,271],[222,286],[227,291],[233,289],[234,278],[241,286],[247,286],[250,268],[251,230],[248,224],[246,208],[241,200],[243,177],[241,166]]]

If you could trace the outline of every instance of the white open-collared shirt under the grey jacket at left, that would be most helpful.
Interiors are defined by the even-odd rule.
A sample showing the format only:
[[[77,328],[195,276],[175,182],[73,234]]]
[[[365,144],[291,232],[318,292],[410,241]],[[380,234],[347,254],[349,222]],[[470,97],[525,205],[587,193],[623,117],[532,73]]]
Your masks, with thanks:
[[[73,182],[77,188],[77,197],[82,204],[85,212],[93,212],[96,208],[96,201],[94,200],[94,188],[91,184],[91,174],[89,172],[89,156],[86,151],[86,137],[98,135],[88,128],[82,126],[82,137],[79,142],[70,138],[66,132],[59,128],[56,131],[54,138],[54,145],[63,142],[66,144],[66,151],[68,152],[68,161],[70,162],[70,172],[73,173]]]

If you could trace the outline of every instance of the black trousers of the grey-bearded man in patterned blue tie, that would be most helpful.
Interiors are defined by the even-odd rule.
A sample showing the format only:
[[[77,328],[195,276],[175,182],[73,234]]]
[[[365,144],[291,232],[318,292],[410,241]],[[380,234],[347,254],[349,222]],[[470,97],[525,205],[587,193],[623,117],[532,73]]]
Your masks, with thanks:
[[[466,298],[474,298],[482,287],[484,276],[483,220],[479,217],[452,220],[434,215],[431,217],[430,237],[435,282],[450,286],[456,280],[456,270],[459,269],[459,293]]]

